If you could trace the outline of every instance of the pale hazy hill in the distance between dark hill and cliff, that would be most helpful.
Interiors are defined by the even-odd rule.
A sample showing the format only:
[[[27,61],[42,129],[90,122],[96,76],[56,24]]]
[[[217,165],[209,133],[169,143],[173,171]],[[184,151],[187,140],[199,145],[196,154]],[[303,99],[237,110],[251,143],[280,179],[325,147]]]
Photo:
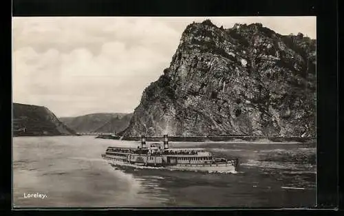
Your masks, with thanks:
[[[130,117],[126,117],[127,115]],[[98,133],[112,133],[114,130],[118,131],[118,129],[125,129],[129,125],[131,115],[132,114],[122,113],[100,113],[77,117],[63,117],[59,118],[59,120],[78,133],[94,133],[96,131]]]

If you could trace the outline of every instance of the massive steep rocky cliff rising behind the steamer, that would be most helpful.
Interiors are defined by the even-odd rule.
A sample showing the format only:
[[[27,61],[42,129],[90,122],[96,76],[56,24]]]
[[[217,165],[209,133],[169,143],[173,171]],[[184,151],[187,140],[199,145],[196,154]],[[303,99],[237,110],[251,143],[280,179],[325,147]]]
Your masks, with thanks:
[[[316,41],[261,24],[187,26],[125,136],[315,136]]]

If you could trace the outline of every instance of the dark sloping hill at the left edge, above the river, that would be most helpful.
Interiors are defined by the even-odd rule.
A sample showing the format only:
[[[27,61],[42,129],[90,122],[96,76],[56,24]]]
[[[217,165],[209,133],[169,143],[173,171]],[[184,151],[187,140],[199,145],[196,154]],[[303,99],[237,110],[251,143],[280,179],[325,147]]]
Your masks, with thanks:
[[[14,136],[75,135],[46,107],[13,103]]]

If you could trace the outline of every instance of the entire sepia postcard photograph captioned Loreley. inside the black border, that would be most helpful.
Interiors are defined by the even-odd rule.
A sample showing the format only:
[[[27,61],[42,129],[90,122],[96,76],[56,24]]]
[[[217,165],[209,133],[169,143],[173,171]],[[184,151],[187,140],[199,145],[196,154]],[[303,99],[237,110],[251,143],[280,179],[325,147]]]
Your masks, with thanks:
[[[12,17],[13,208],[316,206],[316,17]]]

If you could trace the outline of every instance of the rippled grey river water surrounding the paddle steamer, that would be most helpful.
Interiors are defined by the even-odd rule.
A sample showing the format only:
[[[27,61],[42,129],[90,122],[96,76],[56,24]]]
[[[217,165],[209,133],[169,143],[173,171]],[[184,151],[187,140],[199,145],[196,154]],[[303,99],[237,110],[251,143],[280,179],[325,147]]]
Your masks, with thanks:
[[[239,158],[239,173],[113,167],[108,146],[138,142],[94,136],[13,140],[14,207],[312,207],[316,204],[315,144],[171,142]],[[45,199],[24,197],[29,193]]]

